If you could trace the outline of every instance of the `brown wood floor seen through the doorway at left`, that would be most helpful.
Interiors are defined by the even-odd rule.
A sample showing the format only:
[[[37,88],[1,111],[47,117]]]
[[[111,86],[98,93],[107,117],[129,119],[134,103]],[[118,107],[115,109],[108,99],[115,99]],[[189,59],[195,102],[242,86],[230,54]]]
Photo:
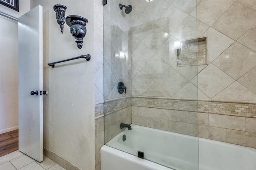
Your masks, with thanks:
[[[19,130],[0,134],[0,157],[18,150]]]

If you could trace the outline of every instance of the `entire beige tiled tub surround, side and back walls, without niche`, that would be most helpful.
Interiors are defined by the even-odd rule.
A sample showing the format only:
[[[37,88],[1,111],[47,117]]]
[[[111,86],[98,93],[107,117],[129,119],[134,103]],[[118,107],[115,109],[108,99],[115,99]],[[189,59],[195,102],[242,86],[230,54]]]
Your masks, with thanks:
[[[120,0],[104,6],[109,12],[104,15],[104,99],[111,103],[106,115],[115,115],[112,127],[119,123],[114,118],[128,118],[131,110],[133,124],[256,147],[255,1],[158,2]],[[125,14],[119,3],[132,4],[132,12]],[[176,67],[174,42],[199,37],[208,39],[208,65]],[[119,81],[127,94],[116,93]],[[118,97],[123,98],[112,100]],[[119,105],[125,100],[130,105]],[[97,165],[104,121],[102,105],[96,107]],[[113,136],[106,135],[106,141]]]

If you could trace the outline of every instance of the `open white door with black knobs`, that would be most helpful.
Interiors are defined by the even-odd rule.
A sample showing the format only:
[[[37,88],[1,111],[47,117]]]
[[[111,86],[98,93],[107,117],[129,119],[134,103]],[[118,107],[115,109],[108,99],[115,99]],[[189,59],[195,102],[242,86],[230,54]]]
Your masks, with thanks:
[[[42,6],[18,19],[19,150],[39,162],[43,161],[42,22]]]

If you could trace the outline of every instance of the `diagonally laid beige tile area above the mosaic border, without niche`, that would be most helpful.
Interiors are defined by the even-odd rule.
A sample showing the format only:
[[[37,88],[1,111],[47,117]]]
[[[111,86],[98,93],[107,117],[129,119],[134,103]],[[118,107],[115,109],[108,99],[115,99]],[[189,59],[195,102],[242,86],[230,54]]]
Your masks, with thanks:
[[[162,4],[159,5],[159,2]],[[106,27],[112,34],[110,37],[106,35],[106,46],[110,50],[104,51],[104,58],[107,54],[105,61],[108,61],[115,79],[125,80],[130,74],[132,95],[193,97],[189,89],[198,86],[198,97],[203,99],[239,99],[238,95],[224,97],[239,88],[249,95],[246,100],[254,99],[255,0],[198,0],[197,4],[196,11],[195,1],[190,0],[154,0],[150,3],[132,0],[132,17],[127,18],[119,13],[110,16],[114,18],[110,22],[112,25]],[[122,25],[123,19],[127,20],[127,24]],[[117,24],[114,25],[114,22]],[[132,26],[130,31],[127,29],[129,24]],[[128,34],[130,39],[127,41],[125,38]],[[194,66],[198,69],[176,67],[174,42],[204,36],[208,37],[210,64]],[[118,41],[114,42],[116,38]],[[116,51],[122,50],[125,41],[130,42],[125,46],[128,45],[132,53],[129,56],[132,58],[130,72],[128,65],[120,64],[120,61],[109,63],[108,60]],[[116,74],[120,69],[127,70],[123,78],[122,72]],[[197,73],[198,77],[195,77]],[[111,76],[109,78],[111,82]],[[235,80],[239,83],[234,83]],[[116,81],[111,83],[108,94],[114,89],[113,83],[115,85]],[[111,96],[115,97],[113,94]]]

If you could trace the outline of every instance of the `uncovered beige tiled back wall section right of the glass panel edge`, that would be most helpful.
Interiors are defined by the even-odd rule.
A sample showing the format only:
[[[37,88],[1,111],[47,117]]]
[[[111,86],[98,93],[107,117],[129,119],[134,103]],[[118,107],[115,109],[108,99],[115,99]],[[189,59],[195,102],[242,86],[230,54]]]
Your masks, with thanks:
[[[198,67],[200,137],[256,148],[255,15],[253,0],[198,3],[198,37],[208,37],[209,55]]]

